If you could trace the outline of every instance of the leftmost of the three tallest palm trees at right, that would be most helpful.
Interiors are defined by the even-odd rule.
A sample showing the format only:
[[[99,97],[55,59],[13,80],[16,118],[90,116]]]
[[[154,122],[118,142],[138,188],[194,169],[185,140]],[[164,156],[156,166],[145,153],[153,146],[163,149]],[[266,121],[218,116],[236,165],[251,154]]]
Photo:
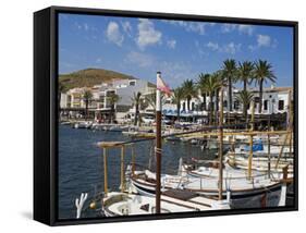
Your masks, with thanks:
[[[230,111],[233,111],[233,96],[232,96],[232,88],[233,83],[236,78],[236,61],[234,59],[228,59],[223,62],[222,72],[223,77],[225,78],[229,87],[229,105],[230,105]]]

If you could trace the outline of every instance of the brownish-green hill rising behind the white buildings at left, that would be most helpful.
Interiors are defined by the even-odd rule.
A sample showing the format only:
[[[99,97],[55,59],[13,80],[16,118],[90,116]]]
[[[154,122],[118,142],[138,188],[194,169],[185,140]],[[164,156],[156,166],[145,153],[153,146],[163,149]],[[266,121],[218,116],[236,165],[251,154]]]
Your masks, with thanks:
[[[115,79],[135,78],[131,75],[103,69],[85,69],[70,74],[60,74],[59,82],[65,90],[69,90],[75,87],[91,87],[101,83],[111,83]]]

